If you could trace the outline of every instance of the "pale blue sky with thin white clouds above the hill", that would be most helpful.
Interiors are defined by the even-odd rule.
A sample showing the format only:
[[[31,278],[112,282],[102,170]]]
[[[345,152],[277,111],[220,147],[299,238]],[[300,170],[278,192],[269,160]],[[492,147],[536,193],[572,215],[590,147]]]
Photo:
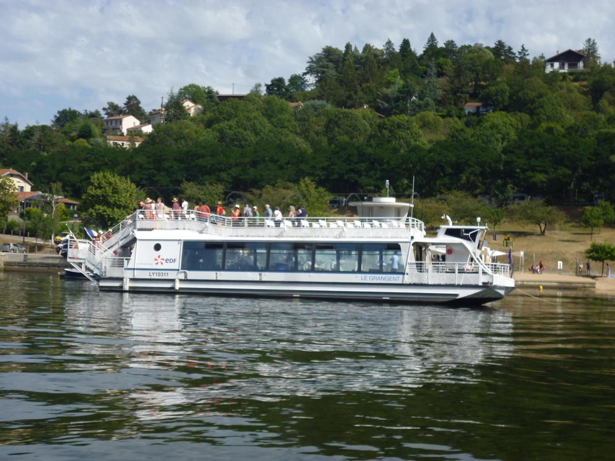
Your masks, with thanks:
[[[134,94],[146,111],[173,87],[247,93],[304,71],[325,45],[504,40],[546,57],[592,37],[615,59],[612,0],[0,0],[0,119],[49,124]]]

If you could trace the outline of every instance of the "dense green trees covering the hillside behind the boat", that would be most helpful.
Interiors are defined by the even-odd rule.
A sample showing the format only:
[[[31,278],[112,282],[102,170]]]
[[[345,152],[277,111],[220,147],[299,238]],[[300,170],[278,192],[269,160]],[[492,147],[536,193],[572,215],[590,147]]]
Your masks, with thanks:
[[[440,45],[432,34],[418,53],[399,47],[324,47],[305,72],[258,85],[243,100],[219,101],[206,85],[170,92],[167,123],[138,148],[100,138],[100,111],[62,109],[51,126],[0,125],[0,164],[28,171],[37,184],[61,181],[81,197],[97,171],[129,176],[168,202],[184,182],[260,190],[311,178],[331,194],[379,192],[389,179],[400,195],[412,176],[422,197],[447,191],[506,200],[514,192],[548,203],[615,199],[615,69],[544,72],[502,41]],[[204,106],[188,117],[181,100]],[[291,106],[290,101],[303,101]],[[466,116],[468,101],[490,104]],[[368,109],[365,109],[365,106]],[[139,112],[134,95],[110,101],[106,114]],[[382,114],[380,117],[378,114]],[[153,189],[151,192],[148,188]],[[542,232],[542,224],[541,224]]]

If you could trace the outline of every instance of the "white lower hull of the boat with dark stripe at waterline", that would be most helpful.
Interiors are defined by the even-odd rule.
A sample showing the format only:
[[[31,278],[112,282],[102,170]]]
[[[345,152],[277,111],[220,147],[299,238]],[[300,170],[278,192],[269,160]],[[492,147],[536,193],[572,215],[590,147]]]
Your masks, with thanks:
[[[100,290],[150,293],[202,293],[217,296],[291,297],[367,302],[452,303],[481,305],[498,301],[514,287],[479,285],[392,285],[368,286],[348,283],[276,283],[207,280],[152,280],[103,278]]]

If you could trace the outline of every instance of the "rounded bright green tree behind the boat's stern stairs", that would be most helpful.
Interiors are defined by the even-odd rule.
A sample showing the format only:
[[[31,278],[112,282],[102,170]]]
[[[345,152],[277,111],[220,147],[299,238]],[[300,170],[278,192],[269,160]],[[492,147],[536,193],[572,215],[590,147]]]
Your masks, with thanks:
[[[83,215],[103,229],[130,215],[137,200],[137,186],[129,178],[99,171],[90,178],[82,197]]]

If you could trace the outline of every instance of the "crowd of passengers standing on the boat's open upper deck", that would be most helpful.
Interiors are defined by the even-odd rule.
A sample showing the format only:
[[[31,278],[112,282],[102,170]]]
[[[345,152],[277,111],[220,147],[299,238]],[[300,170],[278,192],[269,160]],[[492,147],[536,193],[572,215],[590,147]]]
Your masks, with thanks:
[[[135,211],[142,211],[141,215],[143,215],[144,219],[165,219],[165,216],[168,219],[190,219],[189,215],[193,214],[196,216],[197,221],[212,221],[213,223],[218,224],[222,224],[224,217],[226,217],[226,209],[222,206],[222,202],[218,202],[218,206],[212,211],[212,208],[210,208],[206,202],[196,200],[194,202],[194,207],[192,207],[192,213],[188,213],[189,203],[188,200],[184,198],[181,199],[180,204],[177,197],[173,197],[171,203],[171,207],[167,207],[167,205],[162,202],[161,197],[158,197],[156,202],[148,197],[147,199],[140,200],[137,203],[137,208],[135,208]],[[245,203],[243,210],[239,204],[236,204],[231,208],[230,215],[233,226],[244,226],[246,221],[244,218],[261,218],[258,207],[254,205],[250,208],[248,203]],[[275,210],[272,210],[269,204],[267,204],[265,205],[263,218],[264,220],[273,221],[276,227],[280,227],[284,216],[282,215],[282,211],[280,211],[280,207],[276,207]],[[296,211],[295,207],[290,205],[287,218],[290,219],[290,222],[294,226],[300,226],[300,221],[308,218],[308,210],[306,210],[305,205],[301,205],[301,207],[299,207],[299,211]],[[254,221],[252,220],[248,222],[253,223]]]

